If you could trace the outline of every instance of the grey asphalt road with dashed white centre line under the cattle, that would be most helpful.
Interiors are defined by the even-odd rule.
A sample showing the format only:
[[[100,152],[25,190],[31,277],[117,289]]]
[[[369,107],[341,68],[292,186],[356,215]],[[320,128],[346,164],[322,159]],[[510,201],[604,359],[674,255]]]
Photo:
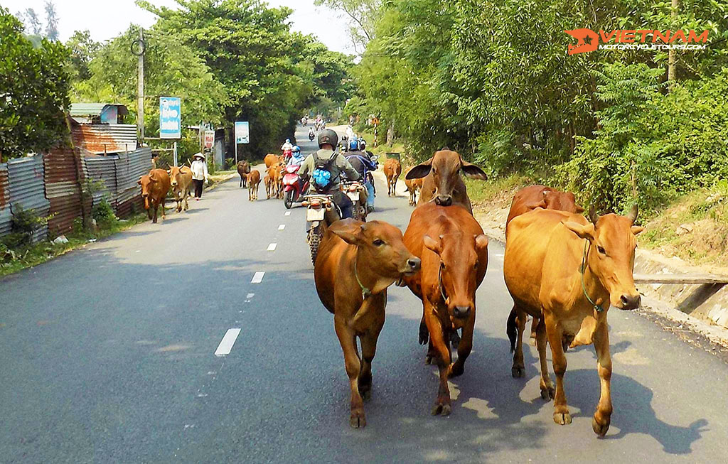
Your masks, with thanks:
[[[372,218],[405,228],[407,199],[388,199],[383,184],[379,192]],[[609,433],[591,429],[599,380],[587,347],[567,353],[574,422],[555,425],[534,347],[526,378],[510,377],[512,302],[494,242],[452,415],[430,415],[438,378],[417,344],[422,307],[393,287],[367,426],[349,428],[349,385],[314,289],[304,210],[287,216],[282,201],[264,198],[261,188],[249,202],[231,180],[189,212],[0,281],[0,462],[728,460],[726,365],[614,308]],[[257,272],[262,281],[251,283]],[[215,356],[232,328],[232,351]]]

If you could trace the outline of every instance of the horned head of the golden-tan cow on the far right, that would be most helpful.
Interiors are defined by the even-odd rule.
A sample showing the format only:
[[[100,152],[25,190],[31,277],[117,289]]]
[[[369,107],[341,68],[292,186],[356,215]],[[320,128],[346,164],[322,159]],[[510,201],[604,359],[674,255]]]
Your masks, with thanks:
[[[634,225],[638,209],[635,205],[626,216],[599,216],[592,207],[587,225],[562,221],[566,228],[589,241],[588,270],[609,292],[609,303],[620,309],[635,309],[640,296],[635,287],[633,268],[637,240],[644,228]]]

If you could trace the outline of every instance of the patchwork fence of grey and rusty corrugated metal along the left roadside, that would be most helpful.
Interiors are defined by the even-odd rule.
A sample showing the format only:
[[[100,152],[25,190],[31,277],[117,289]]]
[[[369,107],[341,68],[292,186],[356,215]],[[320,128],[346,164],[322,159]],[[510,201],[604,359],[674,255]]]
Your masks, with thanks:
[[[82,185],[86,180],[102,187],[93,203],[106,197],[116,215],[126,217],[132,204],[141,207],[139,177],[151,169],[151,150],[138,148],[113,156],[94,156],[71,148],[59,148],[44,155],[13,159],[0,164],[0,236],[12,228],[12,207],[32,209],[39,216],[53,215],[37,231],[34,241],[66,233],[74,219],[82,217]],[[100,181],[100,182],[98,182]]]

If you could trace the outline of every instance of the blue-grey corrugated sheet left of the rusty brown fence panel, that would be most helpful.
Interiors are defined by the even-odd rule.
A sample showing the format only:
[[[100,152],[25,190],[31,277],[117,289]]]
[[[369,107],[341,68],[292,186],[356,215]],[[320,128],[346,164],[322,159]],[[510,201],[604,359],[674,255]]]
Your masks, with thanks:
[[[36,215],[50,213],[50,201],[45,196],[43,156],[28,156],[13,159],[7,163],[10,204],[20,204],[23,209],[32,209]],[[33,234],[33,241],[47,238],[48,228],[44,226]]]

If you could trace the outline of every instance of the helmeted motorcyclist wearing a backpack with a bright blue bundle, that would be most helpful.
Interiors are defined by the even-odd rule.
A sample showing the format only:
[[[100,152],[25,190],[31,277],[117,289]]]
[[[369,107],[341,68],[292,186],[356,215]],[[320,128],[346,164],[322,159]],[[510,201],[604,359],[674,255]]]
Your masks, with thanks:
[[[301,169],[298,169],[298,175],[301,179],[313,177],[310,183],[312,188],[315,188],[318,193],[333,196],[333,202],[341,209],[341,219],[346,219],[354,217],[354,205],[339,188],[341,174],[343,172],[349,180],[360,180],[360,175],[344,156],[335,151],[338,143],[339,135],[336,135],[332,129],[321,131],[318,136],[320,149],[306,157],[304,163],[301,164]],[[317,167],[317,164],[319,166],[326,164],[325,169]],[[328,184],[324,187],[317,186],[317,174],[320,176],[321,171],[328,172],[328,177],[330,177]]]

